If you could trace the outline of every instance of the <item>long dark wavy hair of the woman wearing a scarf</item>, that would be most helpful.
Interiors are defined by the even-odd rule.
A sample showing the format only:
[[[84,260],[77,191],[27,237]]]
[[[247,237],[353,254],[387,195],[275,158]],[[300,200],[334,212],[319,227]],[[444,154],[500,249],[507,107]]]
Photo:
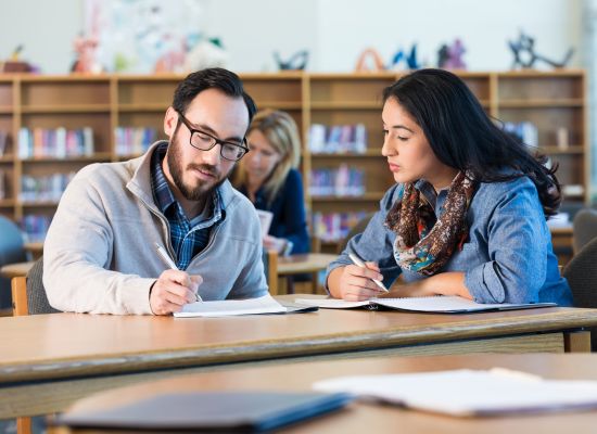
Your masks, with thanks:
[[[547,168],[545,155],[532,155],[524,143],[498,128],[456,75],[416,71],[383,90],[383,102],[392,98],[421,127],[442,163],[480,182],[528,176],[537,188],[545,216],[557,213],[562,200],[557,165]]]

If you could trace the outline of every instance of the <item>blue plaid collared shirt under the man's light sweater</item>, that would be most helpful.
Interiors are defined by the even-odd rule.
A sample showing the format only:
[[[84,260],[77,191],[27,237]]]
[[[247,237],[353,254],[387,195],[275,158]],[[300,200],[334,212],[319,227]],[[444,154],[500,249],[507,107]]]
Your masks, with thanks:
[[[170,227],[170,241],[176,265],[180,270],[186,270],[192,258],[207,246],[212,229],[221,220],[221,202],[219,192],[215,189],[212,195],[211,215],[204,219],[194,218],[189,220],[170,191],[162,170],[162,162],[167,148],[167,143],[160,144],[151,157],[151,188],[155,204],[164,214]],[[207,206],[207,203],[205,206]]]

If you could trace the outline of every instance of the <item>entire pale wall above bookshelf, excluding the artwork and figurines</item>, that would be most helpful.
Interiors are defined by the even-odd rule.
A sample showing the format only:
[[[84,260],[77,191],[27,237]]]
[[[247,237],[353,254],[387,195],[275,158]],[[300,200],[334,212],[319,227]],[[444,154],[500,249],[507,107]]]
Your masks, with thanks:
[[[348,72],[358,53],[376,47],[388,62],[418,42],[422,61],[436,62],[441,43],[460,37],[470,69],[507,69],[508,39],[524,29],[542,54],[560,59],[576,47],[582,66],[581,0],[200,0],[205,33],[219,36],[238,72],[275,69],[272,52],[310,51],[309,69]],[[179,0],[162,1],[176,7]],[[0,0],[0,58],[18,43],[46,73],[66,73],[73,39],[82,29],[82,0]]]

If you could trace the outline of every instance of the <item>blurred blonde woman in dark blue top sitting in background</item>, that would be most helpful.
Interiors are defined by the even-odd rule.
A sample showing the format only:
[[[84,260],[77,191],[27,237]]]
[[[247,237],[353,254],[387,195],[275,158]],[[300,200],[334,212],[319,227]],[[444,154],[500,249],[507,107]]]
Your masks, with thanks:
[[[232,183],[257,209],[274,214],[264,247],[281,255],[309,251],[303,180],[296,169],[301,139],[284,112],[258,112],[246,135],[250,152],[238,166]]]

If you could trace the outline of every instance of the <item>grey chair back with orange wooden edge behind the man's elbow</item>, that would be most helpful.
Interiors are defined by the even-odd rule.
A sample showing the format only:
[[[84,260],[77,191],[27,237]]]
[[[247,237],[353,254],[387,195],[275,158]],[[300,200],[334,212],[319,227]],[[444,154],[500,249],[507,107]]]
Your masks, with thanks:
[[[26,278],[13,278],[13,316],[56,314],[43,288],[43,256],[36,260]]]

